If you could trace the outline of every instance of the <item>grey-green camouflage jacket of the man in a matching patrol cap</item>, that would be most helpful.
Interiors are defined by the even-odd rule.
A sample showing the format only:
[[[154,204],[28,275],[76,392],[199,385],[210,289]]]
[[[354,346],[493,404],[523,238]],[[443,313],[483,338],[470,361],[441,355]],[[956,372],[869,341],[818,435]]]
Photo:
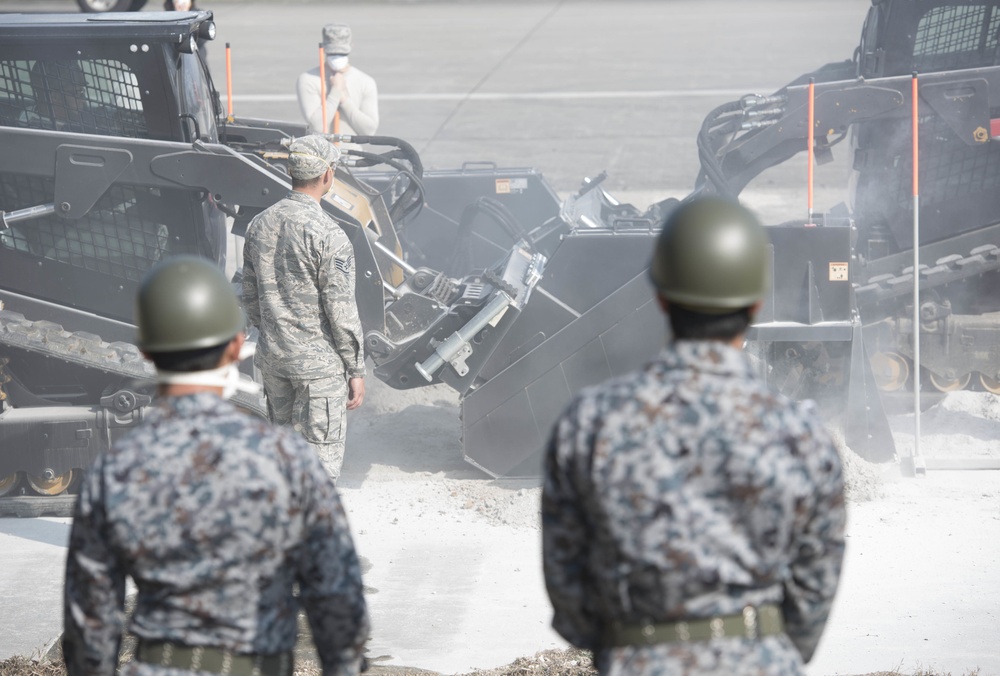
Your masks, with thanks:
[[[258,363],[286,378],[363,378],[354,274],[351,241],[313,198],[291,192],[258,214],[243,249]]]

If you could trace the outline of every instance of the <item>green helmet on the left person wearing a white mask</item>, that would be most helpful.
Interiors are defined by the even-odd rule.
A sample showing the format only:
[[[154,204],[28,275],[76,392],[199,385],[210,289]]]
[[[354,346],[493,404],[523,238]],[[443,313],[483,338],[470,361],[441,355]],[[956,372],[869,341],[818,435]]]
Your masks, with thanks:
[[[211,262],[175,256],[150,270],[135,309],[139,349],[181,352],[228,343],[243,330],[232,285]]]

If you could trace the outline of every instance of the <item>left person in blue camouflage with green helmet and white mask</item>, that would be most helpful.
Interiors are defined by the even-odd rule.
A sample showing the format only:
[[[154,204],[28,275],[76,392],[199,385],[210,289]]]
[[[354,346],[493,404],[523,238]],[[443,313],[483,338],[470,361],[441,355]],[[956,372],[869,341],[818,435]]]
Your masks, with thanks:
[[[244,329],[232,286],[204,259],[169,259],[140,287],[137,324],[159,397],[80,489],[69,675],[115,673],[126,576],[139,637],[127,676],[290,676],[300,606],[323,673],[359,673],[369,622],[337,490],[299,435],[226,400]]]

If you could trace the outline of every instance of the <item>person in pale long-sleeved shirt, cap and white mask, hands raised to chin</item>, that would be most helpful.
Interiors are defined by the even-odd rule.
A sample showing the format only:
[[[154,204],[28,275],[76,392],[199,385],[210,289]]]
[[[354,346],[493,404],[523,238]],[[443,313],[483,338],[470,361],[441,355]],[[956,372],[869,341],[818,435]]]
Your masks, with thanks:
[[[378,129],[378,87],[368,74],[351,65],[351,28],[332,23],[323,27],[326,55],[327,133],[370,136]],[[299,110],[310,134],[323,133],[323,101],[320,98],[319,66],[299,75],[295,83]],[[339,111],[338,129],[334,116]]]

